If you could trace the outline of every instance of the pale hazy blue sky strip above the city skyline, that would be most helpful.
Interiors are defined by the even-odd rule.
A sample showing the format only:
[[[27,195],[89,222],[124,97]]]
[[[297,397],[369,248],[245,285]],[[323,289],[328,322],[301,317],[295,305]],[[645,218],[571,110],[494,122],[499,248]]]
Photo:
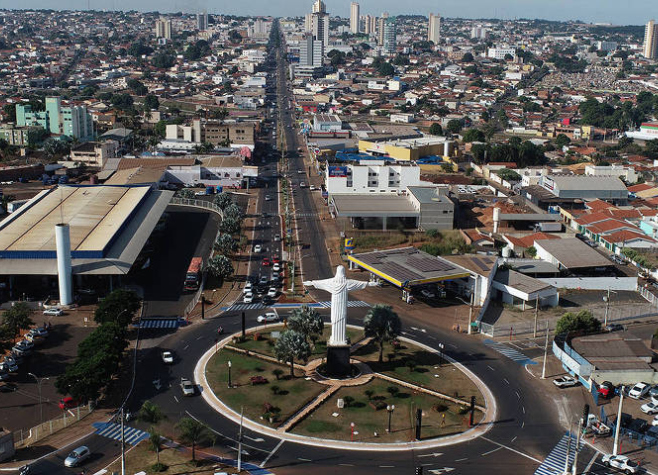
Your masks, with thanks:
[[[349,16],[351,0],[325,0],[331,14]],[[546,18],[613,24],[643,24],[658,18],[657,0],[361,0],[361,13],[420,13],[430,11],[462,18]],[[2,8],[117,9],[184,11],[243,15],[302,15],[313,0],[0,0]]]

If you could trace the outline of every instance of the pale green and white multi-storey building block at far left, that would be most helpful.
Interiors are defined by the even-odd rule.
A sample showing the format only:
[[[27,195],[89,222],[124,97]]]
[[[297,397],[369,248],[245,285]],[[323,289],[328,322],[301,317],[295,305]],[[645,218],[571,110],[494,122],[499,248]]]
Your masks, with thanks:
[[[62,106],[61,97],[46,97],[44,111],[35,112],[29,104],[16,105],[18,127],[39,126],[53,135],[65,135],[81,141],[94,136],[91,114],[85,106]]]

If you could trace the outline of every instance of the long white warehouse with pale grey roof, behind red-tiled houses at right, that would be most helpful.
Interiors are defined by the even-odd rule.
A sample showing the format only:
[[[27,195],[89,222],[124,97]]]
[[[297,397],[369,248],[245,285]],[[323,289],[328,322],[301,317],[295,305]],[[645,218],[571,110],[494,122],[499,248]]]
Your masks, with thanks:
[[[616,176],[543,175],[539,186],[562,199],[628,201],[628,189]]]

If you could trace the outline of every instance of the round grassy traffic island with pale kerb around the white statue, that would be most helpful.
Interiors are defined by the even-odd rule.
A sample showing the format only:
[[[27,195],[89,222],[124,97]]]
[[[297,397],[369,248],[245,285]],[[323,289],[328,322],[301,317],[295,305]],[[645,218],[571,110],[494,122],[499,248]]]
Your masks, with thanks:
[[[244,340],[226,338],[195,370],[203,397],[233,420],[244,413],[251,430],[340,448],[436,447],[491,426],[495,401],[486,386],[445,355],[405,338],[385,347],[382,362],[378,346],[363,340],[352,346],[355,377],[323,377],[317,370],[325,362],[327,328],[309,361],[292,368],[274,356],[282,325],[253,330]],[[348,333],[363,335],[357,327]]]

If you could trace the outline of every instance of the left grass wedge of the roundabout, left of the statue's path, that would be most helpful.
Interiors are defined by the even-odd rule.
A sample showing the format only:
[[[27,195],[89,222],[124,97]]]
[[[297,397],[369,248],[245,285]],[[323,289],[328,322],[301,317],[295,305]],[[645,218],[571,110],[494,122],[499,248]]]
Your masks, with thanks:
[[[231,360],[231,382],[233,388],[228,388],[228,361]],[[272,373],[275,369],[283,370],[281,380],[277,381]],[[321,384],[306,381],[299,377],[290,378],[290,366],[270,363],[260,359],[245,356],[231,350],[221,350],[208,362],[206,376],[212,390],[227,406],[236,412],[244,407],[244,415],[255,421],[271,427],[277,427],[289,419],[306,402],[315,399],[325,389]],[[251,376],[263,376],[267,384],[252,386]],[[274,386],[279,390],[272,392]],[[273,406],[271,411],[275,416],[272,423],[261,417],[267,412],[265,404]]]

